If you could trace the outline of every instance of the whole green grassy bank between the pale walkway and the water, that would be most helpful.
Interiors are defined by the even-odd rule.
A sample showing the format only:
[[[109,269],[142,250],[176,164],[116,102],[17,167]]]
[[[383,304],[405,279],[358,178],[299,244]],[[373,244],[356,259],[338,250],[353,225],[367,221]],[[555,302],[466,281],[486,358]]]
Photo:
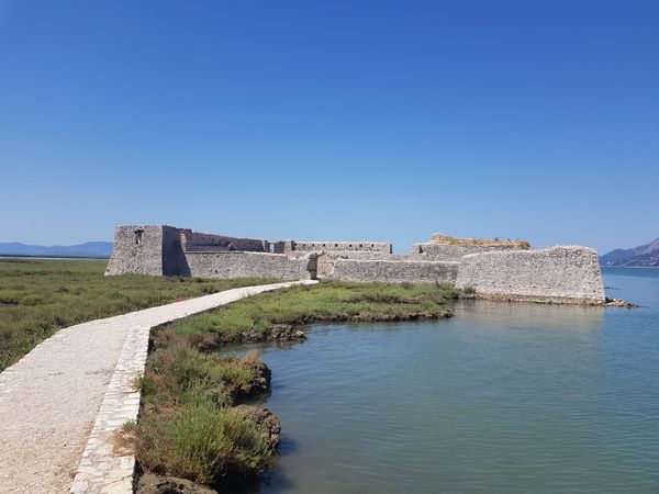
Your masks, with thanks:
[[[231,479],[258,476],[275,458],[272,445],[233,405],[264,391],[263,362],[255,355],[241,359],[212,350],[294,337],[294,329],[314,322],[448,317],[445,302],[457,294],[435,285],[322,282],[253,296],[155,328],[139,383],[138,463],[146,472],[215,487],[226,487]]]

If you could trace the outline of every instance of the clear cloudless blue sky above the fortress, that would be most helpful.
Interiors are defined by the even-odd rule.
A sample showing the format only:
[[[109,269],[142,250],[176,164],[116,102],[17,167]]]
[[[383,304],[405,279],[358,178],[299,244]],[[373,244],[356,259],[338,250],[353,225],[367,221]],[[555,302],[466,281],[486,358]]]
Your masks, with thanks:
[[[657,1],[0,0],[0,242],[659,236]]]

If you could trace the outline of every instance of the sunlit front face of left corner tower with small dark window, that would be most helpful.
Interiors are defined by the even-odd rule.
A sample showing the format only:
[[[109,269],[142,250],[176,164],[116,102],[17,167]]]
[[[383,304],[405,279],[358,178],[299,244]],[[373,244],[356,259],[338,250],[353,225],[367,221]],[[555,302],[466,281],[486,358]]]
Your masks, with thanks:
[[[152,274],[163,276],[163,240],[177,228],[161,225],[121,225],[114,231],[114,246],[105,268],[105,274]]]

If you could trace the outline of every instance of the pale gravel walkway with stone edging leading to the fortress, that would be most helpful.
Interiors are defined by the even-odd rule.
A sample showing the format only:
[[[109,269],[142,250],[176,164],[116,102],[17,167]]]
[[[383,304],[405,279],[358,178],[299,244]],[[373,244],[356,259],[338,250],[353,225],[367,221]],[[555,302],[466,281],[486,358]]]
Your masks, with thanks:
[[[38,345],[0,373],[0,492],[131,492],[132,456],[120,458],[119,470],[103,456],[116,457],[111,433],[136,418],[132,381],[144,370],[149,329],[295,283],[313,281],[227,290],[91,321]]]

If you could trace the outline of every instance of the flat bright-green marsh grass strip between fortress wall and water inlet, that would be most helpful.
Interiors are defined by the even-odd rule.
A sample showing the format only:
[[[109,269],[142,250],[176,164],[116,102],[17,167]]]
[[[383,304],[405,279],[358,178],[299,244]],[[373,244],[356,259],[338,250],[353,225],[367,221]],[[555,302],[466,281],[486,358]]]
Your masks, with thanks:
[[[239,341],[245,333],[267,334],[276,325],[438,318],[448,314],[445,304],[458,294],[451,285],[324,281],[244,299],[156,328],[155,335],[193,346],[213,339],[224,345]]]

